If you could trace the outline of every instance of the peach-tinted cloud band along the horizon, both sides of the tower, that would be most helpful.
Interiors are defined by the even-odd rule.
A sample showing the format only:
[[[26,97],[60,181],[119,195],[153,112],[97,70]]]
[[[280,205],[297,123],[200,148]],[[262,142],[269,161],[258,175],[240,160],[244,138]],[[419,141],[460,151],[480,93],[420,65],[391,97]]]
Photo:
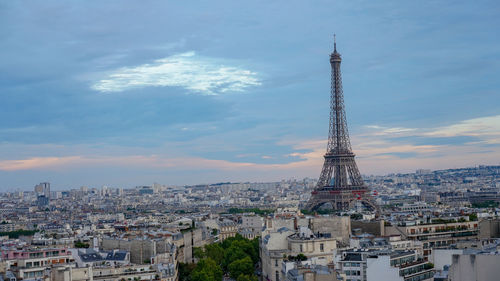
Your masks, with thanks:
[[[411,172],[416,169],[446,169],[478,164],[499,164],[500,146],[487,148],[476,144],[456,145],[415,145],[410,143],[393,142],[393,136],[457,136],[482,134],[483,139],[478,143],[500,143],[500,115],[488,118],[465,120],[447,127],[434,129],[405,129],[369,126],[370,129],[384,129],[380,132],[355,135],[353,140],[356,161],[363,174],[388,174]],[[479,126],[480,125],[480,126]],[[31,157],[27,159],[0,160],[0,171],[20,170],[50,170],[68,169],[89,165],[138,167],[138,168],[176,168],[185,170],[218,170],[238,172],[273,173],[295,177],[317,177],[323,165],[323,155],[326,148],[326,139],[297,140],[288,138],[276,143],[277,145],[291,146],[295,152],[284,157],[295,157],[292,161],[283,164],[233,162],[229,160],[207,159],[202,157],[163,157],[158,155],[128,155],[128,156],[95,156],[68,155],[62,157]],[[306,151],[306,152],[303,152]],[[141,154],[141,153],[139,153]],[[400,154],[400,155],[398,155]],[[408,157],[401,157],[408,154]],[[239,155],[237,155],[239,157]],[[243,155],[241,156],[243,157]],[[292,159],[292,158],[290,158]],[[221,174],[224,175],[224,174]],[[255,177],[255,175],[249,175]]]

